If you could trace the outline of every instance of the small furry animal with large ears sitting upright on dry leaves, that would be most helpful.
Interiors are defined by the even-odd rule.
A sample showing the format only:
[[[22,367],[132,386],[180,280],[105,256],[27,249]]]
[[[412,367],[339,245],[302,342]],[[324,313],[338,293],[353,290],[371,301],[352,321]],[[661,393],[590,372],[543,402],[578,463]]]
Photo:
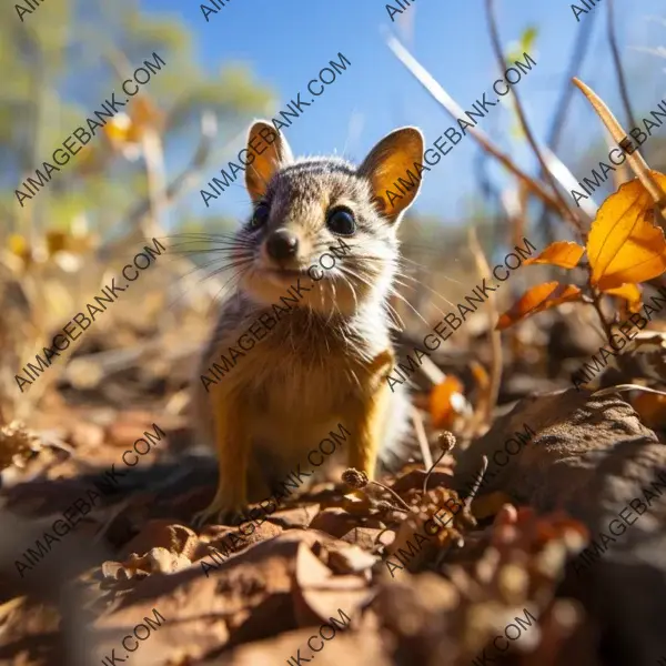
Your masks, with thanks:
[[[346,464],[372,478],[380,451],[394,450],[408,424],[408,395],[385,381],[394,365],[387,300],[400,258],[396,229],[421,183],[394,205],[386,190],[423,162],[421,132],[391,132],[359,168],[339,158],[294,159],[263,121],[250,129],[249,151],[260,135],[273,141],[245,171],[253,214],[228,246],[238,284],[200,374],[243,334],[249,351],[223,376],[210,375],[214,383],[198,380],[193,395],[199,435],[216,450],[220,471],[198,524],[238,517],[249,501],[269,496],[337,424],[351,433],[341,446]],[[349,252],[322,271],[319,258],[339,241]],[[307,271],[313,264],[319,272]],[[273,304],[296,292],[297,304],[276,316]],[[256,323],[271,319],[260,339]]]

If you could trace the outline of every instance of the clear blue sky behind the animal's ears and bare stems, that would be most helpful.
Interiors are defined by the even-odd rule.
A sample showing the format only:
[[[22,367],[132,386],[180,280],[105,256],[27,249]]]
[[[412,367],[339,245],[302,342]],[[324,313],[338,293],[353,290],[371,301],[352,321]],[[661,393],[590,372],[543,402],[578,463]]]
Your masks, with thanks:
[[[249,63],[256,79],[276,91],[279,107],[304,91],[307,81],[339,52],[352,63],[320,100],[285,130],[295,154],[344,151],[345,157],[360,161],[376,141],[397,127],[418,127],[427,144],[451,127],[448,114],[386,47],[382,28],[405,41],[463,108],[470,108],[484,91],[490,91],[497,78],[482,0],[415,0],[403,12],[403,18],[412,24],[411,38],[397,23],[391,22],[386,4],[375,0],[225,1],[226,7],[211,14],[210,22],[205,21],[200,3],[193,0],[142,0],[142,7],[148,12],[167,12],[184,21],[194,34],[201,64],[211,73],[219,72],[228,61]],[[403,4],[406,6],[406,0]],[[212,4],[209,2],[209,6]],[[666,60],[635,50],[635,47],[666,47],[666,23],[649,19],[666,20],[665,10],[663,0],[616,0],[623,62],[638,110],[655,108],[666,98]],[[605,39],[606,2],[601,0],[594,11],[602,16],[596,19],[592,48],[578,75],[619,111]],[[496,12],[505,49],[527,27],[538,29],[536,49],[532,53],[537,67],[521,81],[517,91],[533,130],[543,140],[582,23],[576,21],[571,3],[559,0],[497,0]],[[591,20],[589,14],[582,14],[581,20]],[[601,125],[582,95],[577,93],[576,98],[559,152],[569,168],[592,141],[603,138]],[[511,137],[512,123],[508,108],[495,108],[480,127],[511,151],[525,169],[534,171],[532,155]],[[240,130],[233,128],[232,134]],[[660,131],[666,132],[666,129]],[[242,143],[239,142],[235,152]],[[448,220],[468,212],[476,191],[476,153],[474,140],[466,138],[426,173],[415,210]],[[223,165],[220,162],[216,169]],[[205,171],[206,181],[216,169],[211,165]],[[502,178],[500,170],[493,173]],[[208,210],[199,193],[190,198],[188,204],[195,215],[214,212],[238,216],[249,210],[249,200],[241,188],[224,192]]]

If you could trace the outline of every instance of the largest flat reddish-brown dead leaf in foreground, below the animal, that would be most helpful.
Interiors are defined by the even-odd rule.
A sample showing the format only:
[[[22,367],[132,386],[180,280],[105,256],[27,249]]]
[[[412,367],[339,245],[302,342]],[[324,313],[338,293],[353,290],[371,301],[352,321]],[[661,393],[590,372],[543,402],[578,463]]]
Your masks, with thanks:
[[[275,529],[278,526],[273,525]],[[111,654],[128,629],[153,617],[167,619],[159,637],[141,655],[141,666],[179,663],[185,655],[202,659],[234,643],[259,640],[295,628],[292,589],[301,547],[327,543],[325,535],[290,531],[261,542],[223,564],[200,566],[170,576],[150,576],[130,589],[121,606],[95,622],[104,629],[94,646],[95,657]],[[185,662],[186,663],[186,662]]]

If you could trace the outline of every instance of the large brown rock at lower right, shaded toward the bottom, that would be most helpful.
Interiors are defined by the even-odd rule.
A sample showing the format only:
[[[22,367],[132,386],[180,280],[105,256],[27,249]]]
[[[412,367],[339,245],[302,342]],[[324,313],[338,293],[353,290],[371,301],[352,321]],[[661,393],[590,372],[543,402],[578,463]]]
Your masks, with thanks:
[[[516,444],[525,425],[534,435]],[[537,395],[457,454],[456,488],[486,455],[483,493],[562,508],[587,525],[593,543],[571,563],[563,592],[593,614],[609,664],[648,666],[666,655],[666,446],[630,405],[573,389]]]

